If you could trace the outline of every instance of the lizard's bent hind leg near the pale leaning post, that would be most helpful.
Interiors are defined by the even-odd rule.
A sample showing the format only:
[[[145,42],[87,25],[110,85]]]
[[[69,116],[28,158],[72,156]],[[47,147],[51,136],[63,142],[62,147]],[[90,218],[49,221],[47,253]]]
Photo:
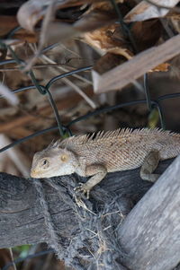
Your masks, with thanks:
[[[159,152],[151,151],[148,153],[140,169],[141,179],[156,182],[159,175],[152,172],[157,169],[159,160]]]

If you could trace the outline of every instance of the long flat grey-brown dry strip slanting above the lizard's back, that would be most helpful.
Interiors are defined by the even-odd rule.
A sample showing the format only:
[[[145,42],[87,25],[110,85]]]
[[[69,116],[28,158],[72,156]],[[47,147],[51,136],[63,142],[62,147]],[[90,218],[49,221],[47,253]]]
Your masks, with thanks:
[[[105,91],[120,90],[129,83],[133,83],[141,75],[150,71],[157,65],[180,54],[180,34],[165,43],[148,48],[126,63],[112,68],[103,75],[93,71],[94,91],[101,93]]]

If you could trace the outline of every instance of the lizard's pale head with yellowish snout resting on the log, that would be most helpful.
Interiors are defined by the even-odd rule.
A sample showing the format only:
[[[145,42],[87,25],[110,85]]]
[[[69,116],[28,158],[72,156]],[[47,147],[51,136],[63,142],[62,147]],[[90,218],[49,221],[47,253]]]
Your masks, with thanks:
[[[35,179],[68,175],[76,170],[75,154],[67,149],[48,147],[36,152],[31,164],[31,177]]]

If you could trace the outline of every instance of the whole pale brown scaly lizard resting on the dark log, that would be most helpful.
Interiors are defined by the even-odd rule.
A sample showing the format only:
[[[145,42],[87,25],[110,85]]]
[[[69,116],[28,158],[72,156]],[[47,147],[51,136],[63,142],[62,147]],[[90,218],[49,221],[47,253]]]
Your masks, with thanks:
[[[41,152],[36,152],[31,165],[32,178],[50,178],[76,173],[90,177],[79,183],[77,191],[86,193],[108,172],[140,169],[140,178],[155,182],[159,161],[180,154],[180,134],[158,128],[121,128],[98,132],[97,135],[77,135],[58,140]]]

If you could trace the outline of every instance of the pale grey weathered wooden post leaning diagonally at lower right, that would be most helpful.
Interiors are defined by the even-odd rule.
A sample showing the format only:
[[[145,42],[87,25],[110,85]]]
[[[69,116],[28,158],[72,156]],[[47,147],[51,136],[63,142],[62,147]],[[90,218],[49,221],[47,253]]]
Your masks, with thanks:
[[[180,261],[180,156],[127,216],[121,247],[133,270],[168,270]]]

